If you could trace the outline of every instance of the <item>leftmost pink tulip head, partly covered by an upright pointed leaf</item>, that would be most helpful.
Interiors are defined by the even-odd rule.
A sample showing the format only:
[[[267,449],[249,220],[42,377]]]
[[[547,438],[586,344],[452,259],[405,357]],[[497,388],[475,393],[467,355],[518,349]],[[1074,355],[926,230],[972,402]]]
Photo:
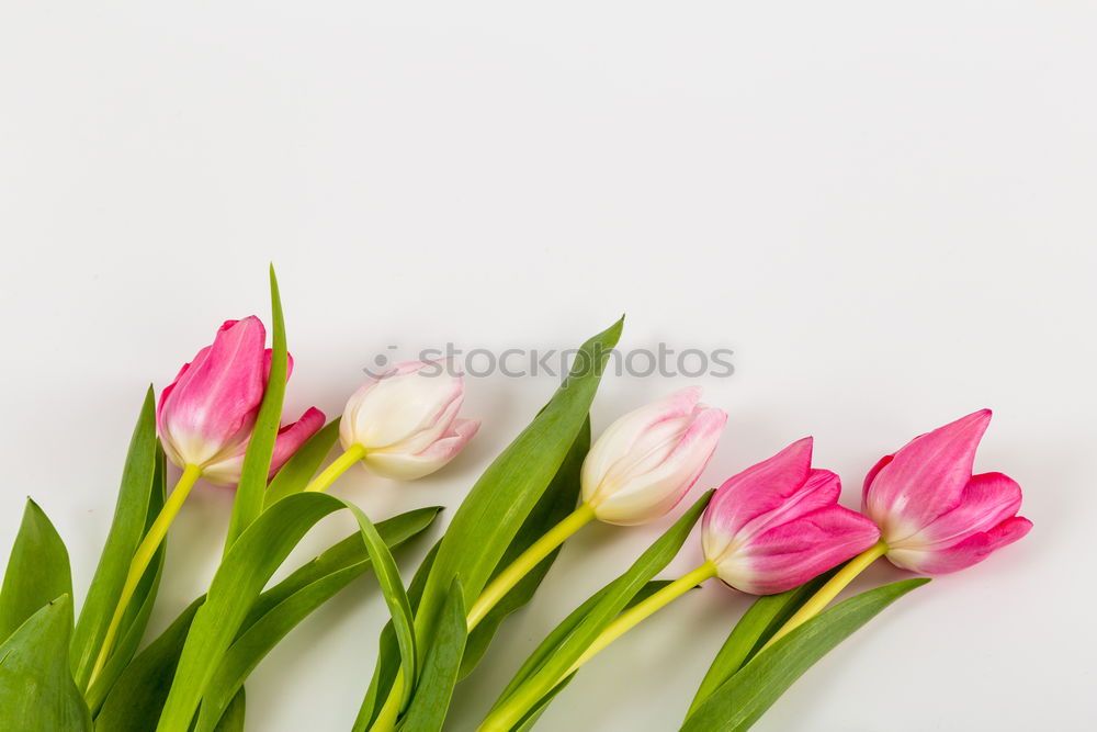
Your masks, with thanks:
[[[195,465],[217,485],[239,482],[270,375],[265,342],[263,324],[253,315],[226,320],[213,345],[200,350],[163,390],[156,420],[171,462]],[[289,368],[292,371],[292,359]],[[323,426],[324,413],[310,408],[283,427],[274,443],[271,474]]]

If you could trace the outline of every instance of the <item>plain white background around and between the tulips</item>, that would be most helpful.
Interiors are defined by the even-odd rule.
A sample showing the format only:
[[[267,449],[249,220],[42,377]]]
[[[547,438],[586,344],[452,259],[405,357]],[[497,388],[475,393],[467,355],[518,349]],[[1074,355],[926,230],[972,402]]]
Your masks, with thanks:
[[[1095,34],[1086,2],[9,0],[0,552],[33,495],[82,596],[145,384],[268,318],[268,260],[293,418],[339,414],[391,345],[566,348],[627,312],[625,348],[735,350],[693,380],[731,414],[706,486],[810,433],[856,506],[879,455],[989,406],[977,468],[1026,491],[1029,538],[904,598],[756,729],[1090,729]],[[596,430],[693,382],[609,378]],[[337,491],[378,518],[455,506],[553,386],[470,379],[484,427],[449,469]],[[208,581],[230,500],[188,502],[154,631]],[[569,542],[452,728],[666,525]],[[747,601],[692,593],[539,729],[675,729]],[[249,729],[348,729],[384,617],[370,579],[316,612],[249,680]]]

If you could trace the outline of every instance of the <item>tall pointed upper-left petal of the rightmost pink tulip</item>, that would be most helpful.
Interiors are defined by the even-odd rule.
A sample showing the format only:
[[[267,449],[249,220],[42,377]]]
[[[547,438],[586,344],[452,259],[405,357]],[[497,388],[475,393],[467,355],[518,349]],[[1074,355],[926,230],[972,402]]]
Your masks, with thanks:
[[[982,409],[904,446],[866,482],[863,505],[889,544],[917,532],[960,503],[975,450],[991,421]]]

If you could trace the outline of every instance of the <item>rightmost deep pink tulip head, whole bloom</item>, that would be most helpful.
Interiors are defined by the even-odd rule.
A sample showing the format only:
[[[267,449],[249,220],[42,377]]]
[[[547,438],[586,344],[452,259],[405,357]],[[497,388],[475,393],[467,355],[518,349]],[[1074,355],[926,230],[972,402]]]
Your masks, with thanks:
[[[991,423],[983,409],[911,440],[864,478],[862,510],[880,526],[887,559],[925,574],[982,562],[1032,528],[1017,516],[1021,488],[1002,473],[972,475]]]

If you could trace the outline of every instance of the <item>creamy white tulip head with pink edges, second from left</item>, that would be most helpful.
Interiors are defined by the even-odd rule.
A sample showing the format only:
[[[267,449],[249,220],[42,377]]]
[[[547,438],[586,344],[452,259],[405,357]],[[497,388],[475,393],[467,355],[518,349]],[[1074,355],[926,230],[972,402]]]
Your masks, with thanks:
[[[479,420],[457,418],[463,401],[464,380],[444,361],[400,363],[350,397],[339,437],[343,449],[364,450],[375,473],[412,481],[453,460],[479,429]]]

